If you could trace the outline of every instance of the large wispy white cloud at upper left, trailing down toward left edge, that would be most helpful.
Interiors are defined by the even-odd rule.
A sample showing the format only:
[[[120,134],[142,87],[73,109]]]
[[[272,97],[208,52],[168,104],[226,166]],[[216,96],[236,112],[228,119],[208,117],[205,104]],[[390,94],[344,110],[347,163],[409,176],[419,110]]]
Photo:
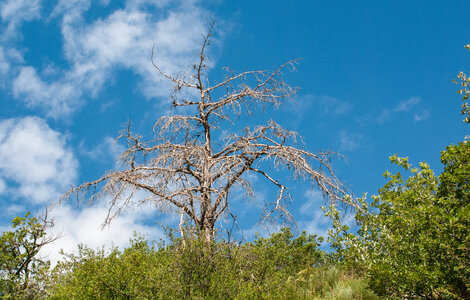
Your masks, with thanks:
[[[120,69],[139,75],[147,98],[167,95],[169,83],[150,61],[152,46],[155,42],[156,60],[165,72],[185,70],[197,58],[207,13],[192,1],[181,1],[173,11],[158,14],[143,4],[147,3],[128,1],[124,9],[86,24],[81,14],[90,1],[60,1],[53,15],[62,17],[64,55],[71,68],[54,79],[23,67],[14,81],[14,96],[44,109],[49,117],[64,117],[82,104],[84,96],[97,97]]]

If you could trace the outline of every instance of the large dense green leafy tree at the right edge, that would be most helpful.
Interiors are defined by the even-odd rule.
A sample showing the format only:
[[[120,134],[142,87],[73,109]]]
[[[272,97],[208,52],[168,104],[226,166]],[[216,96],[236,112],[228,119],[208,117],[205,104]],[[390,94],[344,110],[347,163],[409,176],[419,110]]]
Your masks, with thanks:
[[[426,163],[392,163],[411,172],[384,175],[389,181],[368,204],[359,199],[357,234],[342,225],[335,207],[330,240],[336,259],[364,272],[380,295],[468,299],[470,282],[470,143],[442,152],[437,178]]]

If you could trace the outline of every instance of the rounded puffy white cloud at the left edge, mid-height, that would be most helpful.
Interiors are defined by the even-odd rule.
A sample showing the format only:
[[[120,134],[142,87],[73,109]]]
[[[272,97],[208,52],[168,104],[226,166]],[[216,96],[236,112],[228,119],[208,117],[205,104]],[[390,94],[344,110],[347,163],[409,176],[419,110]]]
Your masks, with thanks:
[[[55,201],[77,176],[65,137],[36,117],[0,121],[0,178],[33,203]],[[7,190],[11,190],[8,188]]]

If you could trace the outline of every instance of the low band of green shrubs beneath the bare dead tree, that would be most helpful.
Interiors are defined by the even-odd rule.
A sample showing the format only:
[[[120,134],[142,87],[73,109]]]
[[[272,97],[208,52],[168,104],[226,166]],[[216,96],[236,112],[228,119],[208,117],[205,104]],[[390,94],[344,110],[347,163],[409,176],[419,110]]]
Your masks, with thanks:
[[[49,298],[374,299],[363,279],[323,266],[315,235],[285,228],[241,245],[188,236],[154,246],[135,238],[109,253],[80,247],[55,268]]]

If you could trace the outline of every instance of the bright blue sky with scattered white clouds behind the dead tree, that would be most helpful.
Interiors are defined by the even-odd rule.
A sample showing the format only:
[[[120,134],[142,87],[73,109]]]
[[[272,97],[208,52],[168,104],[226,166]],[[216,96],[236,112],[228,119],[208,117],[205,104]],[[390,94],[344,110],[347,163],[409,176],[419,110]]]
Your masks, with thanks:
[[[352,193],[376,193],[395,153],[439,172],[440,151],[468,134],[452,80],[470,69],[469,8],[468,1],[2,0],[0,225],[40,213],[71,185],[114,168],[121,125],[131,119],[149,133],[169,112],[170,85],[151,65],[152,45],[166,72],[184,71],[210,17],[214,81],[225,66],[271,69],[302,58],[285,74],[301,89],[296,103],[250,122],[273,118],[298,131],[307,149],[343,154],[335,166]],[[273,196],[254,180],[258,200],[234,199],[247,238],[265,230],[255,224]],[[319,193],[287,185],[299,229],[323,233]],[[105,201],[65,203],[53,214],[64,236],[52,256],[77,243],[123,245],[133,230],[158,238],[159,224],[178,221],[143,207],[99,231]]]

